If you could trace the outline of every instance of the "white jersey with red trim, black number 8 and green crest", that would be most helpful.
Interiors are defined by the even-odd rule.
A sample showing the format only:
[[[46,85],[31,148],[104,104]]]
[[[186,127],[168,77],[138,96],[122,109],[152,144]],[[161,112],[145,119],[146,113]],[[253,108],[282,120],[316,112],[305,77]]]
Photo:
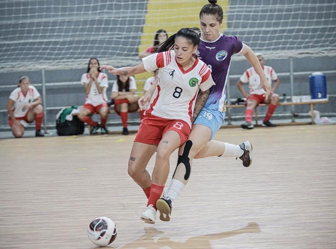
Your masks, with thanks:
[[[148,72],[159,68],[159,83],[146,114],[182,119],[191,127],[199,89],[206,91],[215,84],[210,69],[196,58],[194,65],[185,71],[176,61],[174,50],[147,56],[142,61]]]

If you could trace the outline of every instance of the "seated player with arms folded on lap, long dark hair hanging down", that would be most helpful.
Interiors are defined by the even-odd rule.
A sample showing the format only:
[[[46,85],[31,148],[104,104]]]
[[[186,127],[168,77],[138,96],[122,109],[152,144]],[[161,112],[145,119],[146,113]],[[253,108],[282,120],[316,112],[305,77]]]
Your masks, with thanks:
[[[123,135],[128,135],[128,112],[139,109],[139,96],[135,94],[136,82],[133,76],[118,75],[117,82],[113,84],[111,98],[114,101],[114,110],[120,115],[123,124]]]

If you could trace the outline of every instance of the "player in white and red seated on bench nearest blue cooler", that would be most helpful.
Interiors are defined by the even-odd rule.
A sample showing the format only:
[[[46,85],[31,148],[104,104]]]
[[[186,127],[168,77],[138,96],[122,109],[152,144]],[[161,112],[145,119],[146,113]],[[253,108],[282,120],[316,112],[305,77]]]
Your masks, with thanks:
[[[252,125],[252,115],[253,109],[261,104],[269,104],[266,116],[262,122],[262,126],[266,127],[275,127],[276,125],[271,123],[269,119],[271,118],[274,110],[277,108],[279,103],[279,95],[274,93],[279,85],[279,78],[274,71],[273,68],[270,66],[265,66],[265,61],[261,53],[255,54],[259,60],[260,66],[262,67],[266,79],[269,85],[272,84],[272,80],[274,80],[274,86],[271,90],[271,94],[269,95],[268,99],[265,98],[266,91],[260,85],[260,77],[256,73],[253,67],[250,67],[245,71],[245,73],[240,77],[239,81],[237,82],[237,86],[239,91],[244,95],[246,100],[246,111],[245,111],[245,123],[242,124],[242,128],[244,129],[253,129],[254,125]],[[247,94],[244,90],[243,83],[249,82],[250,92]]]

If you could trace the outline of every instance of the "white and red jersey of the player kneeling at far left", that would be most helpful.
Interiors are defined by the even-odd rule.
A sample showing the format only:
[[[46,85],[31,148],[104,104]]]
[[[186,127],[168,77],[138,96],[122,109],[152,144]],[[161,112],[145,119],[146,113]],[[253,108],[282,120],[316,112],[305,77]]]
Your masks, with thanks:
[[[14,112],[14,117],[24,117],[26,116],[29,109],[24,108],[25,105],[34,102],[41,95],[36,90],[35,86],[30,85],[26,95],[23,94],[21,87],[15,88],[9,95],[9,98],[15,103],[12,107]]]

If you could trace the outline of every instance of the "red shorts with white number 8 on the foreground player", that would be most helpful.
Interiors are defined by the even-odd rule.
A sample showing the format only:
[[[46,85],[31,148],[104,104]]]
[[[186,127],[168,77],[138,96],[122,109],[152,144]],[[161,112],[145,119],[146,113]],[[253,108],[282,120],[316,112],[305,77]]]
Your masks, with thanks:
[[[187,141],[191,132],[187,122],[181,119],[167,119],[146,114],[141,120],[140,128],[134,142],[159,144],[167,131],[176,131],[181,138],[181,145]],[[180,146],[181,146],[180,145]]]

